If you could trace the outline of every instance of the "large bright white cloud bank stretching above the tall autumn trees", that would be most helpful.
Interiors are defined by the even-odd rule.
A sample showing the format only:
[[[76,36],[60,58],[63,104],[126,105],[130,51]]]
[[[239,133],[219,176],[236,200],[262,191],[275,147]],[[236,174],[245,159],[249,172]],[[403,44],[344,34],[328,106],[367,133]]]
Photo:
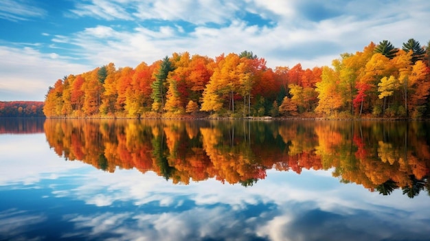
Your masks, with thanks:
[[[343,12],[319,22],[304,19],[304,16],[297,12],[299,2],[293,1],[247,1],[236,2],[235,5],[220,2],[211,5],[200,1],[186,1],[181,4],[177,1],[124,3],[132,4],[137,5],[135,15],[138,19],[182,20],[194,23],[196,27],[184,35],[183,26],[175,22],[172,26],[166,22],[155,29],[142,25],[133,31],[115,30],[113,27],[99,25],[76,34],[78,38],[74,39],[74,43],[84,49],[82,52],[87,53],[87,58],[98,61],[97,65],[115,62],[117,66],[135,67],[139,62],[151,63],[173,52],[189,51],[191,54],[214,58],[222,53],[248,50],[266,58],[270,67],[291,67],[300,62],[303,67],[312,68],[330,65],[331,60],[338,58],[343,52],[361,51],[370,41],[378,42],[387,38],[394,39],[394,43],[401,45],[399,41],[405,38],[405,34],[395,31],[396,26],[401,27],[405,21],[414,23],[418,20],[424,24],[427,21],[419,18],[429,18],[416,9],[416,15],[408,16],[407,20],[400,18],[400,22],[396,22],[392,18],[403,16],[402,8],[385,3],[384,7],[389,11],[384,12],[389,14],[381,14],[356,1],[342,5],[345,9],[325,3],[324,8],[335,8]],[[217,5],[220,5],[219,8]],[[244,6],[263,18],[276,19],[278,23],[273,27],[249,26],[236,17],[236,12]],[[223,27],[205,25],[210,22],[229,24]],[[298,22],[302,23],[297,25]],[[387,30],[389,24],[392,27]],[[425,32],[409,32],[412,31],[419,32],[421,38],[424,37]],[[414,34],[411,34],[411,37],[414,37]],[[115,59],[112,56],[115,56]]]

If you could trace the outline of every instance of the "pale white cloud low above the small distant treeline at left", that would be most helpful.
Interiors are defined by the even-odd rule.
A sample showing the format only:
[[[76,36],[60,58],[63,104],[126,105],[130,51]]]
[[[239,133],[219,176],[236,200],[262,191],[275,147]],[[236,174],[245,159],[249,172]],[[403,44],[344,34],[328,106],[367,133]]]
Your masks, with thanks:
[[[56,53],[43,54],[32,47],[0,46],[0,93],[2,100],[45,99],[45,93],[58,79],[70,73],[88,71]]]

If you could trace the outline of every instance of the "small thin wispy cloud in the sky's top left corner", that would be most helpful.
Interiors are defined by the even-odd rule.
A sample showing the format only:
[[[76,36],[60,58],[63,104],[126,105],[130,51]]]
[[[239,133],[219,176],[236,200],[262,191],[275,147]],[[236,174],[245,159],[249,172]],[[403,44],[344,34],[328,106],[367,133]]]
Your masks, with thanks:
[[[0,19],[8,21],[24,21],[34,17],[41,18],[47,12],[39,8],[32,1],[3,0],[0,1]]]

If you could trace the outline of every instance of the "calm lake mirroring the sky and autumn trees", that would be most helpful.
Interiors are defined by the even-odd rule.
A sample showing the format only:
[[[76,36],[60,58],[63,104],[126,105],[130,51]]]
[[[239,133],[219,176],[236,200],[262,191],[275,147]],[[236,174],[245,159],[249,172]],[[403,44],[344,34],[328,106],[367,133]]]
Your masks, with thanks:
[[[0,240],[429,240],[429,122],[0,119]]]

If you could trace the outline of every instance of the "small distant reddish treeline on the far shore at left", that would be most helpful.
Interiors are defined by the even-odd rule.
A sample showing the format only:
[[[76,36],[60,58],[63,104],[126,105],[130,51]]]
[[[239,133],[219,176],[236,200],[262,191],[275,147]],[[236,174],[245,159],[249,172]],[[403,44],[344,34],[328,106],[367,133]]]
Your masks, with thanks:
[[[45,117],[43,102],[0,101],[0,117]]]

